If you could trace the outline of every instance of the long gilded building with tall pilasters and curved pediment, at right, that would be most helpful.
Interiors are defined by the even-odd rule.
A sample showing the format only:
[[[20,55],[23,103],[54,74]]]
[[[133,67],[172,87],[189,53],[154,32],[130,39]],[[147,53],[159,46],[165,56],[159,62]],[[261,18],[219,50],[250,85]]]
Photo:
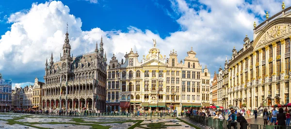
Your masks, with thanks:
[[[222,72],[225,107],[246,104],[254,109],[290,102],[291,7],[266,17],[258,26],[254,23],[254,40],[246,36],[242,49],[233,48],[226,62],[227,71]]]

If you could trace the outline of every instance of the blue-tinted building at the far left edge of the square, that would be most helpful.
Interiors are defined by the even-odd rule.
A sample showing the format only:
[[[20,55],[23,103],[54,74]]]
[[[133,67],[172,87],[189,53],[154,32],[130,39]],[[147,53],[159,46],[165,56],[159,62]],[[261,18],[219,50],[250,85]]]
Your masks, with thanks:
[[[12,81],[4,80],[0,74],[0,110],[11,110]]]

